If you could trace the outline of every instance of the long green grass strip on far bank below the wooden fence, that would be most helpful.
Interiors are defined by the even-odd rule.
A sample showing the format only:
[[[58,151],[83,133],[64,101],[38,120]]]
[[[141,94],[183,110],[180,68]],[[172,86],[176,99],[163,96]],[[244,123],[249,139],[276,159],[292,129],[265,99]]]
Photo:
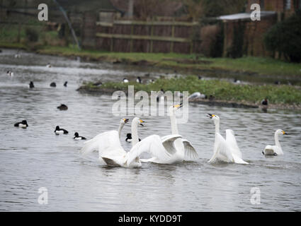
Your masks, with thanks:
[[[90,59],[103,59],[108,61],[123,60],[140,61],[146,60],[158,67],[171,67],[178,69],[210,69],[259,73],[269,76],[301,76],[301,64],[293,64],[265,57],[242,57],[230,58],[205,58],[198,57],[199,61],[209,61],[210,64],[188,64],[185,60],[195,59],[195,54],[162,54],[162,53],[125,53],[125,52],[100,52],[96,50],[79,50],[70,47],[44,47],[39,50],[44,54],[61,54],[64,56],[76,55],[89,57]]]

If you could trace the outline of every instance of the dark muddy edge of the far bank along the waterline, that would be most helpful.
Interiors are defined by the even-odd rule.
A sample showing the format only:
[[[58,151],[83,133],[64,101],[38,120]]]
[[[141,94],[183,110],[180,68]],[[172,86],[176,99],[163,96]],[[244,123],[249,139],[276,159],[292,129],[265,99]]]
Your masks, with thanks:
[[[5,48],[5,47],[2,47]],[[11,48],[8,48],[11,49]],[[18,48],[23,49],[24,48]],[[221,69],[219,67],[212,67],[210,69],[195,69],[193,66],[201,65],[201,64],[212,64],[210,61],[205,60],[195,60],[195,59],[172,59],[166,58],[162,61],[174,61],[176,64],[180,65],[161,65],[159,61],[149,61],[147,59],[127,59],[123,57],[111,57],[111,56],[96,56],[89,53],[63,53],[63,52],[48,52],[47,49],[39,49],[37,47],[30,47],[25,49],[28,52],[34,52],[35,54],[45,54],[50,56],[58,56],[58,57],[67,57],[69,59],[76,59],[76,57],[81,57],[82,61],[87,62],[103,62],[109,64],[121,64],[121,65],[129,65],[129,66],[142,66],[152,68],[156,66],[157,69],[165,69],[174,71],[174,73],[181,73],[185,76],[189,74],[195,74],[198,76],[210,77],[210,78],[228,78],[228,79],[239,79],[246,82],[251,83],[275,83],[276,81],[280,81],[281,84],[293,84],[300,85],[301,78],[299,76],[275,76],[273,74],[265,74],[258,73],[254,71],[245,71],[239,69]],[[181,66],[181,64],[187,64],[187,66]]]

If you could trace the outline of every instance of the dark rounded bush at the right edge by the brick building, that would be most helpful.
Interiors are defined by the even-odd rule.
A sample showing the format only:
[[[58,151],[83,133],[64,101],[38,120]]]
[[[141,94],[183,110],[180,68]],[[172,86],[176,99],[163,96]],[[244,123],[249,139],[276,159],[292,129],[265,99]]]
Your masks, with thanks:
[[[276,23],[266,32],[264,42],[268,50],[284,54],[291,62],[301,61],[301,13]]]

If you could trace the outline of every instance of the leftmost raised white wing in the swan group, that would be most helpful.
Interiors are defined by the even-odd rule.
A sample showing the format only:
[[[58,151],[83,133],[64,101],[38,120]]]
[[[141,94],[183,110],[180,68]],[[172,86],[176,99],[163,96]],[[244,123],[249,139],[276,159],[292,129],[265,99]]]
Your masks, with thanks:
[[[86,155],[93,150],[98,150],[99,155],[110,153],[115,151],[115,153],[124,154],[125,150],[120,144],[118,131],[107,131],[98,134],[96,137],[84,143],[84,147],[81,148],[81,153]]]

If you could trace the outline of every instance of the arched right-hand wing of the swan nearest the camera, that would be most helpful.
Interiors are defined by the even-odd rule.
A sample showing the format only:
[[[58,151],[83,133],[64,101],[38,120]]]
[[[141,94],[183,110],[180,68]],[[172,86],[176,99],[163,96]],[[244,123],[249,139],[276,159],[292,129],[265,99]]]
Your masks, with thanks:
[[[169,142],[174,142],[176,139],[181,138],[181,135],[171,135]],[[127,155],[127,165],[130,165],[136,157],[139,157],[142,153],[149,153],[152,157],[156,157],[159,160],[169,160],[171,154],[166,150],[158,135],[147,136],[142,141],[137,143]]]

